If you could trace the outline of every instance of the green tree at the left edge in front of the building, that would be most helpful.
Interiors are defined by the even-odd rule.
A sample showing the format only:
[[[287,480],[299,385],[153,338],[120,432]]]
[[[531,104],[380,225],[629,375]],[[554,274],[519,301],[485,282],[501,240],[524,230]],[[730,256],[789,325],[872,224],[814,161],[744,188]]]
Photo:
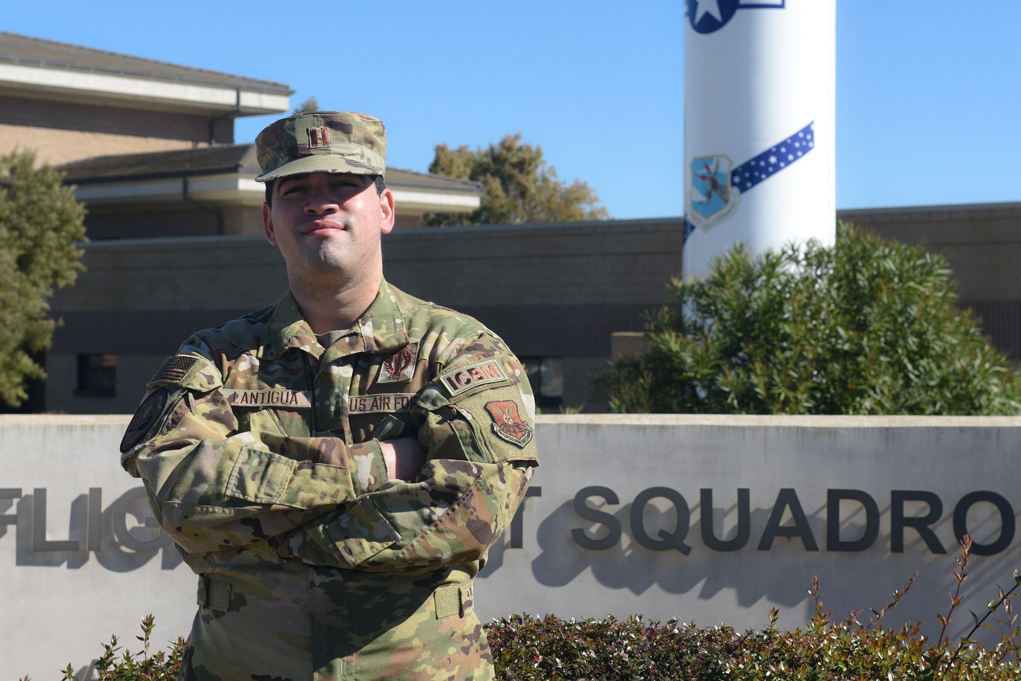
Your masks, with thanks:
[[[53,335],[46,299],[84,269],[85,209],[61,173],[35,163],[32,151],[0,156],[0,402],[12,407],[27,380],[46,377],[32,359]]]

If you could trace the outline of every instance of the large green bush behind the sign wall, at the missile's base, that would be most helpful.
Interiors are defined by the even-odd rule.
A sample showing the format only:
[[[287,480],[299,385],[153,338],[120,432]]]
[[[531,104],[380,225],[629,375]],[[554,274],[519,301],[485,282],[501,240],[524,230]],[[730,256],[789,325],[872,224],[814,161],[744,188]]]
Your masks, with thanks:
[[[614,412],[1017,414],[1019,376],[950,274],[845,225],[830,247],[737,245],[706,279],[675,278],[647,352],[597,383]]]

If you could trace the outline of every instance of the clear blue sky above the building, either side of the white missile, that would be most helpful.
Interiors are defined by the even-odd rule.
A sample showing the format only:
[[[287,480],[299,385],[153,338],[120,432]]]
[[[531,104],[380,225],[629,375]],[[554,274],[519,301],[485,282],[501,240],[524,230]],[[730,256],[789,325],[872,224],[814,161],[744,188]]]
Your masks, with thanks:
[[[0,27],[288,83],[383,119],[398,168],[518,131],[643,218],[683,211],[682,21],[683,0],[50,0]],[[1021,200],[1019,27],[1016,0],[837,0],[837,206]]]

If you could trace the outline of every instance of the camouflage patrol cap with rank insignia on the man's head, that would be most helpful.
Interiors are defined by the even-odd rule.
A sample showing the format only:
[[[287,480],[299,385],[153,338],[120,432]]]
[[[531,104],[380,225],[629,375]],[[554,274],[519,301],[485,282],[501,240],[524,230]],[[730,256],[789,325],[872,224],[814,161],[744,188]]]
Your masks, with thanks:
[[[262,174],[269,182],[298,173],[386,173],[386,127],[379,119],[353,111],[308,111],[270,124],[255,138]]]

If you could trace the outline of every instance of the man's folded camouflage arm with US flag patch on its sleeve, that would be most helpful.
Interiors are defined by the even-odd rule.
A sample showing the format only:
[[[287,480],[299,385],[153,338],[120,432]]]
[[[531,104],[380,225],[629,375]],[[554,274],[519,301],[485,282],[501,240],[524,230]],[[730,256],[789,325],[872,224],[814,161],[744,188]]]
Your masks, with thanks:
[[[121,464],[143,479],[160,526],[184,550],[282,535],[387,479],[376,440],[238,432],[218,371],[199,359],[198,371],[150,383],[121,443]]]

